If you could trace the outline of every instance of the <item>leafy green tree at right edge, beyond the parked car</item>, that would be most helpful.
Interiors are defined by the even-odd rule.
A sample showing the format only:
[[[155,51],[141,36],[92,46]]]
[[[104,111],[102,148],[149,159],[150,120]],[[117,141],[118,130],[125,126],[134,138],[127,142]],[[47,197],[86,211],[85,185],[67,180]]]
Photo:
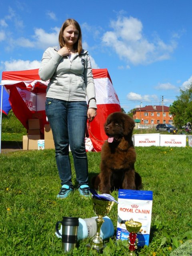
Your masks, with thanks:
[[[176,126],[192,123],[192,84],[186,90],[180,90],[180,96],[170,105],[169,111]]]

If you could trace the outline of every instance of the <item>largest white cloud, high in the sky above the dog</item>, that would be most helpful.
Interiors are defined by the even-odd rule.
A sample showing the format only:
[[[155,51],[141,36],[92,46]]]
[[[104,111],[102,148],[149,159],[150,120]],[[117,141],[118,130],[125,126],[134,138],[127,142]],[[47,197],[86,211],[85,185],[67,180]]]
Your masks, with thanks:
[[[115,50],[120,59],[132,64],[148,64],[170,58],[176,42],[165,44],[156,36],[149,42],[142,33],[142,22],[136,18],[118,17],[111,22],[112,31],[107,31],[102,42]]]

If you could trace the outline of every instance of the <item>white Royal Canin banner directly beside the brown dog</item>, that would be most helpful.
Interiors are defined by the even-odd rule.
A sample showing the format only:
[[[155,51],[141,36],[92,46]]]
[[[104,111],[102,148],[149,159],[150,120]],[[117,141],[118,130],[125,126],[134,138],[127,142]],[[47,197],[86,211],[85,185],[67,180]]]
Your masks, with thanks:
[[[151,134],[134,134],[134,146],[159,146],[160,145],[160,133]]]

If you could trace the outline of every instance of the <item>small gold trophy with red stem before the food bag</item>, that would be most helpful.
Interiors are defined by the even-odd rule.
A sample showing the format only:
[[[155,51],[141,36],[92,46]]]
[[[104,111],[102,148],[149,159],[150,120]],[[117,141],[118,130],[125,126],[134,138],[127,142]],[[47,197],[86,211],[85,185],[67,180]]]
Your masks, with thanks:
[[[142,227],[142,223],[131,219],[125,222],[125,226],[127,231],[130,232],[129,240],[128,240],[130,252],[128,255],[133,255],[132,251],[137,249],[137,243],[138,243],[137,233]]]

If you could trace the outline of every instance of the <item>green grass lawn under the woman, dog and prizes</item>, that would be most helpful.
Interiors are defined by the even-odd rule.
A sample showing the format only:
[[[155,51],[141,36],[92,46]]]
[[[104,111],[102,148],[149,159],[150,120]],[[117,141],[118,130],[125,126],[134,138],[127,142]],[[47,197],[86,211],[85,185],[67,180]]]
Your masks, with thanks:
[[[192,148],[136,147],[136,171],[143,190],[153,191],[150,244],[135,255],[168,256],[192,238]],[[70,158],[72,158],[70,154]],[[89,178],[99,172],[100,153],[88,152]],[[72,180],[76,186],[74,166]],[[90,199],[81,199],[77,190],[57,200],[60,180],[54,150],[16,151],[0,154],[0,256],[64,255],[55,224],[62,216],[94,216]],[[118,192],[112,192],[117,199]],[[108,214],[117,225],[117,205]],[[90,239],[78,241],[68,255],[97,255],[88,250]],[[105,241],[105,256],[124,256],[127,242]]]

